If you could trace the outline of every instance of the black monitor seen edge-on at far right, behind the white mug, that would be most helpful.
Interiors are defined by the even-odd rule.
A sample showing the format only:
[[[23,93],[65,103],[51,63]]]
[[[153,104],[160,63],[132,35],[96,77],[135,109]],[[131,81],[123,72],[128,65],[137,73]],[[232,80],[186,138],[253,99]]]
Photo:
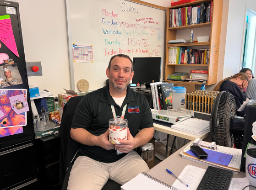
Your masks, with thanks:
[[[245,112],[245,129],[243,136],[243,150],[242,150],[242,161],[241,161],[241,171],[245,172],[245,150],[247,148],[247,144],[251,143],[256,145],[256,141],[251,137],[252,134],[252,123],[256,121],[256,100],[250,100],[246,105]]]

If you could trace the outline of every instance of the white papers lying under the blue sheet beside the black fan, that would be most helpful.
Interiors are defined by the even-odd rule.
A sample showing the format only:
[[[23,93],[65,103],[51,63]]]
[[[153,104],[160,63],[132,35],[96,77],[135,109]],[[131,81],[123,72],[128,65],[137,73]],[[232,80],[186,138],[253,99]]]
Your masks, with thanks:
[[[185,153],[188,150],[190,150],[190,146],[191,146],[192,143],[193,142],[191,142],[180,154],[184,155],[184,156],[187,156],[187,157],[190,157],[190,158],[194,158],[196,160],[199,160],[198,158],[192,157],[191,155]],[[219,152],[219,153],[226,153],[226,154],[233,155],[233,157],[232,157],[231,161],[229,162],[228,166],[223,166],[223,165],[220,165],[220,164],[214,164],[214,163],[210,163],[210,162],[207,162],[207,161],[204,161],[204,160],[200,160],[200,161],[202,161],[202,163],[206,162],[206,163],[214,164],[214,165],[217,165],[217,166],[220,166],[220,167],[223,167],[223,168],[227,168],[227,169],[233,168],[234,171],[240,170],[241,159],[242,159],[242,149],[228,148],[228,147],[223,147],[223,146],[218,145],[216,151]]]

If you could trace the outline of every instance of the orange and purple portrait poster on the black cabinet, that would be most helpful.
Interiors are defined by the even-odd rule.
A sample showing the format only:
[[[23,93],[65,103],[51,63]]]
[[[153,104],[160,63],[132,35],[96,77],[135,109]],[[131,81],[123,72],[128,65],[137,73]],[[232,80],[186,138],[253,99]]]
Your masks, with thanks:
[[[27,112],[22,112],[17,114],[12,109],[12,104],[10,102],[10,97],[19,97],[18,95],[22,95],[27,100],[27,90],[17,90],[17,89],[3,89],[0,90],[0,107],[5,111],[7,116],[2,116],[0,120],[0,129],[6,127],[17,127],[17,126],[26,126],[27,125]],[[24,99],[24,100],[25,100]],[[11,98],[12,100],[12,98]],[[23,103],[24,105],[24,103]],[[28,111],[28,110],[27,110]]]

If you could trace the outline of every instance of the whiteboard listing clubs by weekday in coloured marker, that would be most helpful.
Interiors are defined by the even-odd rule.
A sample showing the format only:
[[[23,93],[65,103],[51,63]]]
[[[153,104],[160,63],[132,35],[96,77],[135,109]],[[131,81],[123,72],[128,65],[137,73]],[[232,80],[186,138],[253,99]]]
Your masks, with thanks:
[[[161,57],[163,79],[166,11],[127,0],[66,0],[66,13],[73,90],[79,92],[80,79],[89,82],[89,90],[102,88],[109,60],[119,53]],[[91,45],[93,62],[74,62],[74,43]]]

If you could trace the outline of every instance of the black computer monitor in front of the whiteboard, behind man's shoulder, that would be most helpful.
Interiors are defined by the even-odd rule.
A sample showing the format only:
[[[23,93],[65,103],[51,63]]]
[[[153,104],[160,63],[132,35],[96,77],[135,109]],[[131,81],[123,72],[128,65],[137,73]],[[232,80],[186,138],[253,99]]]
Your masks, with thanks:
[[[150,83],[160,82],[161,77],[161,58],[133,58],[134,75],[132,83],[145,84],[146,88],[150,88]]]

